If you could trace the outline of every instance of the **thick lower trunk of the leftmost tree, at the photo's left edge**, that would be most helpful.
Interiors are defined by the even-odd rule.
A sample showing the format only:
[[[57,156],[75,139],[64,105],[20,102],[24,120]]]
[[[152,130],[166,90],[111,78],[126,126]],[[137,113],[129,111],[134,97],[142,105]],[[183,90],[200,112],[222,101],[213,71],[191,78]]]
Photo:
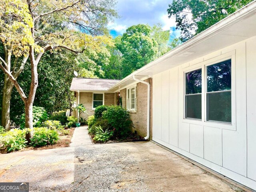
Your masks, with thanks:
[[[10,126],[10,100],[12,94],[12,88],[14,84],[8,78],[8,76],[4,75],[4,88],[3,88],[3,98],[2,98],[2,126],[9,131],[11,129]]]

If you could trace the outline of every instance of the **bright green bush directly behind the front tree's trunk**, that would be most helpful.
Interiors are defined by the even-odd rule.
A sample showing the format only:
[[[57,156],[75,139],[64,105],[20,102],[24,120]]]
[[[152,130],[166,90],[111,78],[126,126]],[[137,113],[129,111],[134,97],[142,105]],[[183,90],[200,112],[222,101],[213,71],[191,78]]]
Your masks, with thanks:
[[[43,107],[33,106],[33,126],[41,126],[42,122],[48,119],[48,113]],[[25,128],[25,114],[21,116],[20,128]]]

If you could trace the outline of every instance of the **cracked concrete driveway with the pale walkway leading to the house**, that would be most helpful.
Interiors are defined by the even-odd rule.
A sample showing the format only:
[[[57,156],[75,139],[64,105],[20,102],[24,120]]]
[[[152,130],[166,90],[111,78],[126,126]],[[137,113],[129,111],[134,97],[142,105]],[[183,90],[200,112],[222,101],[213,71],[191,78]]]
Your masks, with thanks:
[[[68,148],[0,155],[0,181],[31,191],[243,191],[152,142],[92,144],[86,127]]]

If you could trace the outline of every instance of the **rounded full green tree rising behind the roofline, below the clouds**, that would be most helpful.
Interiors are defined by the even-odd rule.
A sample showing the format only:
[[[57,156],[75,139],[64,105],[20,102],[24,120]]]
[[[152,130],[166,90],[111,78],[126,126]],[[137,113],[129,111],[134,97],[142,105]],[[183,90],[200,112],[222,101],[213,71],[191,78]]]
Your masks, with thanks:
[[[148,64],[155,57],[157,42],[151,33],[152,29],[148,25],[134,25],[116,43],[123,57],[123,77]]]

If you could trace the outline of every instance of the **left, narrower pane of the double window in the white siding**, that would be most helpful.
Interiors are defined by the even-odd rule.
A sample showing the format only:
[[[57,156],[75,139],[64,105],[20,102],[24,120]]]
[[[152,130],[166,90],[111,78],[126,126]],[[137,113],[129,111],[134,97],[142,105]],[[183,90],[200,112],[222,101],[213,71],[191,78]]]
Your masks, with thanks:
[[[185,118],[202,119],[202,69],[185,74]]]

